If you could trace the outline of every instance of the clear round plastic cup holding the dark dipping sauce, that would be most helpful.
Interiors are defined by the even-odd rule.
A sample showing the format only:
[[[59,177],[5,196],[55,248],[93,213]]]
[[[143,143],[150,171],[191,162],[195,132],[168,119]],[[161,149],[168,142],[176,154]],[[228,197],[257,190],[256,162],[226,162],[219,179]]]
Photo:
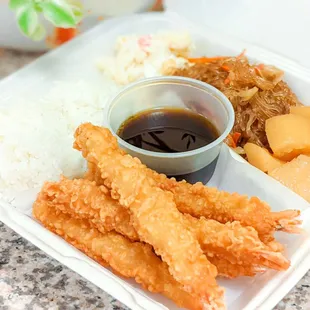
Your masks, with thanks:
[[[192,151],[160,153],[140,149],[117,136],[120,126],[129,117],[158,108],[182,108],[199,113],[217,128],[219,137]],[[132,83],[121,90],[105,109],[105,125],[117,136],[121,148],[149,168],[190,183],[206,183],[211,178],[221,145],[232,129],[234,119],[232,104],[222,92],[207,83],[175,76]]]

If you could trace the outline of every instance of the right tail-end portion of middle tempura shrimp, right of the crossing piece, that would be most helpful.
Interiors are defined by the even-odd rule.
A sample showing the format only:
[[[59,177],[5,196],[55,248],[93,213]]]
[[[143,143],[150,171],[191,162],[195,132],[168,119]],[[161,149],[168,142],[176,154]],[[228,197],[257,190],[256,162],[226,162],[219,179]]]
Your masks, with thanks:
[[[184,216],[208,256],[215,254],[217,258],[232,264],[264,266],[275,270],[286,270],[290,266],[281,253],[273,251],[259,239],[253,227],[244,227],[237,221],[222,224],[204,217]]]

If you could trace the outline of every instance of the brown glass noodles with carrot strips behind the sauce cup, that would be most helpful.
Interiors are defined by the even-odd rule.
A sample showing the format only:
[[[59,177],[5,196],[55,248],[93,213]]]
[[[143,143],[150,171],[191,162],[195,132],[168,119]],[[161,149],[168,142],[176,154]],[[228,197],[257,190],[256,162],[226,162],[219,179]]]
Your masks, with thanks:
[[[174,75],[194,78],[222,91],[235,110],[235,125],[226,142],[243,154],[252,142],[269,149],[265,132],[267,119],[287,114],[300,105],[283,81],[284,72],[265,64],[250,65],[244,52],[237,57],[201,57],[188,59],[188,65]]]

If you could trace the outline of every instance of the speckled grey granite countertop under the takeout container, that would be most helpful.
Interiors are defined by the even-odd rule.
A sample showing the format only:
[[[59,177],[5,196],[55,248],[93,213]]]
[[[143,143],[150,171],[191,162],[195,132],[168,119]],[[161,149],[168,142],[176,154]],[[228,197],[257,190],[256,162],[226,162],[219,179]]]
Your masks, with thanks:
[[[38,56],[0,49],[0,79]],[[0,222],[0,309],[128,308]],[[310,272],[274,310],[309,309]]]

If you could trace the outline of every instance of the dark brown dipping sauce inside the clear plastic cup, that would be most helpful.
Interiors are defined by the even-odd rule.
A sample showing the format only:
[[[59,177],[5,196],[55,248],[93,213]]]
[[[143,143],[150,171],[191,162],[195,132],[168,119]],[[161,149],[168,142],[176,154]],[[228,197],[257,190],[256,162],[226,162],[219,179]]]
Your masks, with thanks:
[[[206,146],[219,137],[215,126],[203,115],[179,108],[158,108],[138,113],[122,123],[118,136],[140,149],[159,153],[179,153]],[[186,175],[168,175],[189,183],[207,182],[217,159]],[[159,171],[160,172],[160,171]]]

